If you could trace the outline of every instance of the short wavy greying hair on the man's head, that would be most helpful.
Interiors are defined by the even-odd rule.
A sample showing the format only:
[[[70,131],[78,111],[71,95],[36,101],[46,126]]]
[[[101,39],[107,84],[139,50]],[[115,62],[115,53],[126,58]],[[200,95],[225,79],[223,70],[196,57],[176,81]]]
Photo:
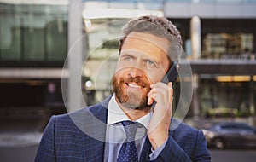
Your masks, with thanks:
[[[180,32],[178,32],[177,27],[166,18],[146,15],[128,21],[128,23],[123,26],[121,37],[119,38],[119,53],[125,42],[125,38],[131,32],[150,33],[160,38],[166,38],[169,41],[167,55],[171,61],[178,61],[183,52],[183,41]]]

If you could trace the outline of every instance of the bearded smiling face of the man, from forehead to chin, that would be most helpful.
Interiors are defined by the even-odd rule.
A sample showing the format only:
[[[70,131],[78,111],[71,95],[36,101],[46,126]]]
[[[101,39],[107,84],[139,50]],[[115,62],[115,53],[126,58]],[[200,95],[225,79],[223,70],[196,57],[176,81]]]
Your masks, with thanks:
[[[113,92],[124,107],[148,107],[150,84],[160,82],[168,67],[168,40],[152,34],[131,32],[122,46],[113,75]]]

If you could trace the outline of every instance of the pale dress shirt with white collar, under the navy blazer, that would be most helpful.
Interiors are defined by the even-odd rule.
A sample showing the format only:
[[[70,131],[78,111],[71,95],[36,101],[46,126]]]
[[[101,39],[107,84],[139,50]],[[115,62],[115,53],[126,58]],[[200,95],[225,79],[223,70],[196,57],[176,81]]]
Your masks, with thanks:
[[[132,111],[132,110],[131,110]],[[147,128],[149,121],[151,119],[152,113],[148,113],[144,115],[142,118],[137,119],[134,122],[138,122],[141,126],[137,129],[137,134],[135,136],[135,143],[137,148],[138,157],[143,150],[143,145],[147,136]],[[105,162],[115,162],[118,155],[119,150],[122,147],[122,144],[125,142],[126,133],[123,125],[120,123],[124,120],[129,119],[123,110],[119,107],[115,95],[112,96],[111,100],[108,103],[108,121],[107,121],[107,130],[106,130],[106,144],[105,144],[105,153],[104,153],[104,161]],[[165,144],[156,150],[152,150],[150,154],[150,159],[156,159]]]

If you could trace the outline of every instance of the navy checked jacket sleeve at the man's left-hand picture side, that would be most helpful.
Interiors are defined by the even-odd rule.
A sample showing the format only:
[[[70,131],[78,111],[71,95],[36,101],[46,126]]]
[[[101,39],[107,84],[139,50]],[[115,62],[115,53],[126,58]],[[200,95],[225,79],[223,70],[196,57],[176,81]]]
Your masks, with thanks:
[[[49,119],[44,129],[35,162],[55,161],[55,116]]]

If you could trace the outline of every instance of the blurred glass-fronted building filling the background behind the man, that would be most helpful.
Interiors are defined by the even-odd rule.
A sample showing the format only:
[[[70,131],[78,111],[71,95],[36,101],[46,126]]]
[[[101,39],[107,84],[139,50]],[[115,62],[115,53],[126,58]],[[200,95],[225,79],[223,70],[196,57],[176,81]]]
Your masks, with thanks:
[[[102,101],[120,26],[157,14],[183,37],[193,72],[189,116],[252,117],[255,9],[254,0],[0,0],[0,116],[47,119],[65,113],[64,103],[72,111]]]

